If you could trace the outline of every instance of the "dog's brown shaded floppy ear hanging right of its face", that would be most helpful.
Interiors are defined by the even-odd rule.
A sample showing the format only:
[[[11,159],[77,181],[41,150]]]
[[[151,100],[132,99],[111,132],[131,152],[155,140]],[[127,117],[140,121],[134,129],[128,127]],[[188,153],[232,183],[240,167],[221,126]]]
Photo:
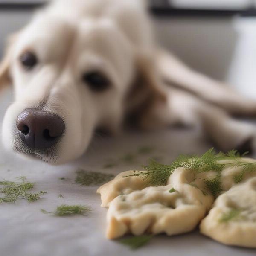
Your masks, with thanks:
[[[140,52],[136,58],[137,77],[126,99],[128,117],[140,128],[161,125],[161,109],[166,109],[167,93],[156,67],[154,52]]]

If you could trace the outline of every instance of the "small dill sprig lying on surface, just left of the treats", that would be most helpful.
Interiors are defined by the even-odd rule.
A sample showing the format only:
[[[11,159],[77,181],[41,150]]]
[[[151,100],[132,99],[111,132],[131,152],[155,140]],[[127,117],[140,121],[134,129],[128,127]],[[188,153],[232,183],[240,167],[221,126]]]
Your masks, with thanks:
[[[84,205],[67,205],[61,204],[58,206],[55,211],[47,212],[44,209],[41,209],[43,213],[52,213],[56,216],[67,216],[67,215],[84,215],[87,216],[91,212],[91,208]]]

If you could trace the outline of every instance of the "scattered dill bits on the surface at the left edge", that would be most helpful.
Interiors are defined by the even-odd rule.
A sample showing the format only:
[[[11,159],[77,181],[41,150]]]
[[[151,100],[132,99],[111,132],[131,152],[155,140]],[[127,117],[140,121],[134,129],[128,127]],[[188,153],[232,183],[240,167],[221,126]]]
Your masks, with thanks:
[[[26,199],[29,203],[34,202],[44,195],[45,191],[39,191],[36,193],[29,193],[34,188],[35,183],[26,182],[26,177],[17,177],[20,182],[1,180],[0,181],[0,194],[4,196],[0,197],[0,203],[15,203],[17,199]]]

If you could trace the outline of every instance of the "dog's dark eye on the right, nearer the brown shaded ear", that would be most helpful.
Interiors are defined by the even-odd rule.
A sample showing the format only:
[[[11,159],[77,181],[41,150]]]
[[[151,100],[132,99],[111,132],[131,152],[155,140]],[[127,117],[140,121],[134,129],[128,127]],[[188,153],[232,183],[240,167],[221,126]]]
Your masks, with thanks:
[[[111,84],[109,79],[98,71],[85,73],[82,76],[82,80],[95,92],[106,90]]]

